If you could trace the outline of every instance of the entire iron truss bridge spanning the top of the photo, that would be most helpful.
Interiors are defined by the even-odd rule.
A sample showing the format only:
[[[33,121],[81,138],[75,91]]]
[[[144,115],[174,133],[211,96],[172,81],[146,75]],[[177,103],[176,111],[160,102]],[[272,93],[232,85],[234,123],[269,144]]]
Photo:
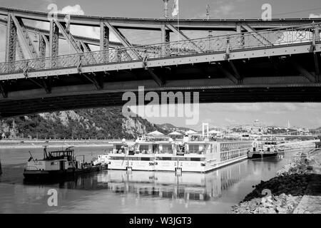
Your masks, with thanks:
[[[123,105],[123,93],[138,94],[138,86],[145,93],[199,92],[200,103],[321,101],[321,19],[183,19],[180,30],[175,23],[76,15],[66,21],[63,14],[50,19],[0,7],[0,118]],[[76,26],[97,29],[99,38],[73,35]],[[159,37],[132,42],[142,31]],[[72,53],[61,54],[61,43]]]

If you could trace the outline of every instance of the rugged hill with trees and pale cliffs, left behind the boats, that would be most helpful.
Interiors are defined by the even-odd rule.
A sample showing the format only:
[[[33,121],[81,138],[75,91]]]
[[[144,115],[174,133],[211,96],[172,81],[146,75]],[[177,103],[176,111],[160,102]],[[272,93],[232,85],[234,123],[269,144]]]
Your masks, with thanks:
[[[133,139],[154,130],[170,132],[139,116],[123,116],[121,107],[68,110],[0,120],[0,136],[6,138]]]

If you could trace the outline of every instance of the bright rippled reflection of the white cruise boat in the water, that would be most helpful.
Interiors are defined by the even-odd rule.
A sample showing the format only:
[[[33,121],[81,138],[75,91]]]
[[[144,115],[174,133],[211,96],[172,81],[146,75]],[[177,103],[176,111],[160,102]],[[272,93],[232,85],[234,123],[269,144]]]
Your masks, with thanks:
[[[208,173],[146,172],[105,170],[94,175],[78,177],[59,187],[77,190],[108,190],[113,194],[136,199],[156,197],[188,204],[215,200],[223,190],[248,175],[248,161],[223,167]],[[125,202],[124,202],[125,203]]]

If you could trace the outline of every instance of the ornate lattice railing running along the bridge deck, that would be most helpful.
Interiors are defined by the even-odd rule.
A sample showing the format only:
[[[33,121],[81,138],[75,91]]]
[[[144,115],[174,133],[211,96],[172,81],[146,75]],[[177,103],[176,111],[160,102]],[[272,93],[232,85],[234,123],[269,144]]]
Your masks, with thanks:
[[[320,42],[320,24],[0,63],[0,75]]]

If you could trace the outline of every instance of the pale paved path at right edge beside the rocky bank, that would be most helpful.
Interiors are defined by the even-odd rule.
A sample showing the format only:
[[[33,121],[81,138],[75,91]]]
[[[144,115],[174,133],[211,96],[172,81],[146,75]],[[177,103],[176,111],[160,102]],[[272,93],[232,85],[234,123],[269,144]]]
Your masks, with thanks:
[[[321,150],[317,150],[313,156],[315,161],[310,165],[312,166],[311,172],[315,176],[312,177],[305,195],[293,211],[293,214],[321,214]]]

